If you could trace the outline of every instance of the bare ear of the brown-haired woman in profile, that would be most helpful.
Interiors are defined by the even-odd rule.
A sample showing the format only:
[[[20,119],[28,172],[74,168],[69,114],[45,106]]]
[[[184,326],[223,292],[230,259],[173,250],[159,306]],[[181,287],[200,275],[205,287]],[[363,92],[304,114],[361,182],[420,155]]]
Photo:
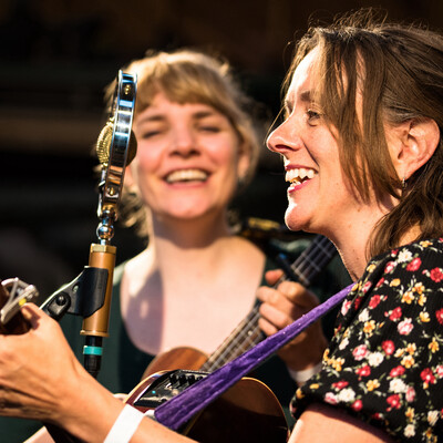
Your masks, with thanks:
[[[440,142],[440,128],[432,119],[412,119],[392,131],[394,142],[390,143],[392,138],[388,136],[392,163],[399,178],[408,179],[434,154]]]

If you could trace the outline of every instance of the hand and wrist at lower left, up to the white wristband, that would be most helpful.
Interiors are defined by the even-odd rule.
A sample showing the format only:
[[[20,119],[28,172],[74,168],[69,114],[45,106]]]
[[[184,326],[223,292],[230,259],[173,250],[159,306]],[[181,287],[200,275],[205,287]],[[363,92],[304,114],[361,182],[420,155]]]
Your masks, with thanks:
[[[30,330],[0,336],[0,415],[55,424],[103,442],[123,408],[76,360],[58,322],[35,305],[21,312]]]

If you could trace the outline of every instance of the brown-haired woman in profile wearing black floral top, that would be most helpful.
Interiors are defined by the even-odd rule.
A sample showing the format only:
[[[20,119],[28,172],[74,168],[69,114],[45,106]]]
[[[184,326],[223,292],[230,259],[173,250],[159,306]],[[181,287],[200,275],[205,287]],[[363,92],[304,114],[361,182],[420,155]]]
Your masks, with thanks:
[[[288,226],[327,235],[358,280],[293,398],[291,442],[443,435],[443,39],[365,14],[301,39],[268,138]],[[300,168],[316,175],[300,183]]]

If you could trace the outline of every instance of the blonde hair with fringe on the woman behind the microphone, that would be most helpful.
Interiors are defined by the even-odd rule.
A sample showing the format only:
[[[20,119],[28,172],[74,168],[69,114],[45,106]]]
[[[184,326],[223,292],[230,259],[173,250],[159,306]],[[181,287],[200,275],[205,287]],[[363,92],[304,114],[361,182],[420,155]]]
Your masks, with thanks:
[[[204,103],[224,114],[249,157],[248,171],[239,177],[240,188],[250,182],[260,153],[250,116],[254,104],[233,78],[226,61],[194,50],[148,51],[145,58],[134,60],[123,71],[137,75],[135,115],[148,107],[158,92],[172,102]],[[107,86],[107,99],[111,99],[114,87],[114,83]],[[137,225],[138,231],[146,235],[146,214],[136,196],[125,193],[121,213],[126,225]]]

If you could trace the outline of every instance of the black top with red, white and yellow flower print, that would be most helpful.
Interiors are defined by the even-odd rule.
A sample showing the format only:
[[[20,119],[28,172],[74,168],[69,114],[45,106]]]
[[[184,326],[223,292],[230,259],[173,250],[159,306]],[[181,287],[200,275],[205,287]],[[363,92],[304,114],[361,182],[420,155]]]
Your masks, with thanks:
[[[369,261],[341,307],[321,372],[292,399],[293,415],[312,402],[401,442],[443,442],[443,238]]]

